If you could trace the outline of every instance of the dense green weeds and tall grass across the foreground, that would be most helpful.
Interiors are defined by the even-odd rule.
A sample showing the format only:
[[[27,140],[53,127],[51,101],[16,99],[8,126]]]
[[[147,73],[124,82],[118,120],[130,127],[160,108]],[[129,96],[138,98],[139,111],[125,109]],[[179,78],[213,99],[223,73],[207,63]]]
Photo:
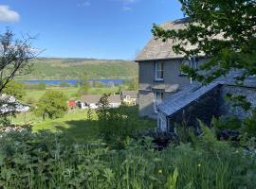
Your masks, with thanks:
[[[210,142],[208,135],[198,143]],[[222,144],[171,146],[162,151],[127,142],[110,150],[101,142],[70,143],[47,132],[0,138],[3,188],[254,188],[255,155]],[[215,143],[213,140],[210,143]],[[223,142],[220,142],[223,143]]]

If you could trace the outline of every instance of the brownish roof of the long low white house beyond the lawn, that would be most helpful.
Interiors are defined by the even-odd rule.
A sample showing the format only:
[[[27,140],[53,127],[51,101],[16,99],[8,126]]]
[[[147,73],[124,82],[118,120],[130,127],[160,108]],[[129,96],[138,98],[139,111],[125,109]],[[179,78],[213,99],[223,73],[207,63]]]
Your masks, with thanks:
[[[88,104],[91,104],[91,103],[98,103],[101,99],[101,94],[87,94],[87,95],[82,95],[81,97],[81,101],[82,102],[86,102]],[[120,99],[120,95],[117,94],[117,95],[110,95],[108,97],[108,102],[109,103],[120,103],[121,102],[121,99]]]

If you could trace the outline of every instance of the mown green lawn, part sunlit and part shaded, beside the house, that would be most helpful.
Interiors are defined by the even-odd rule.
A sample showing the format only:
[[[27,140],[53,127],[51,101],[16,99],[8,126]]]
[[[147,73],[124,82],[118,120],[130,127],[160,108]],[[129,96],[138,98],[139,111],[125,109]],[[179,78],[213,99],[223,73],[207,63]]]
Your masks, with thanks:
[[[120,107],[118,111],[132,117],[137,130],[155,128],[155,121],[138,117],[137,107]],[[87,119],[86,110],[67,112],[63,118],[47,119],[46,121],[29,112],[26,116],[25,114],[19,114],[16,118],[12,118],[12,122],[14,124],[28,122],[33,126],[32,130],[34,132],[47,129],[52,132],[62,132],[79,141],[97,138],[99,127],[97,119]]]

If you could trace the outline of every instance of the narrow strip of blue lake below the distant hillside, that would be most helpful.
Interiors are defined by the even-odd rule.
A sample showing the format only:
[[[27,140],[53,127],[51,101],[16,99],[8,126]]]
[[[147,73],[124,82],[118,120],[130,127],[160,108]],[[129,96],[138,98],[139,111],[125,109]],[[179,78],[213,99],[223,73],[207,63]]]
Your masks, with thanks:
[[[46,85],[60,85],[61,82],[66,82],[69,85],[76,85],[80,82],[81,79],[53,79],[53,80],[44,80],[44,79],[32,79],[32,80],[21,80],[21,82],[28,83],[28,84],[38,84],[38,83],[46,83]],[[108,78],[93,78],[89,79],[89,81],[101,81],[105,85],[115,84],[119,85],[122,84],[124,79],[108,79]]]

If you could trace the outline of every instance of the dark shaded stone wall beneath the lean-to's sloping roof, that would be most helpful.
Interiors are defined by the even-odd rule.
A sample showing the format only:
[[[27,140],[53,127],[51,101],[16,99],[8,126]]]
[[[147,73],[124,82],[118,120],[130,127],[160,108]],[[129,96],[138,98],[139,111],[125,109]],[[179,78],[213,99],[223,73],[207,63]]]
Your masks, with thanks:
[[[197,119],[200,119],[210,126],[210,121],[213,116],[235,115],[238,118],[243,119],[251,114],[251,112],[245,112],[240,107],[233,108],[231,106],[232,102],[226,100],[227,94],[245,95],[247,96],[247,101],[252,104],[252,107],[256,108],[256,88],[219,85],[198,100],[193,101],[192,104],[189,104],[184,109],[181,109],[168,117],[168,129],[172,131],[175,123],[179,125],[185,123],[187,126],[197,127]]]

